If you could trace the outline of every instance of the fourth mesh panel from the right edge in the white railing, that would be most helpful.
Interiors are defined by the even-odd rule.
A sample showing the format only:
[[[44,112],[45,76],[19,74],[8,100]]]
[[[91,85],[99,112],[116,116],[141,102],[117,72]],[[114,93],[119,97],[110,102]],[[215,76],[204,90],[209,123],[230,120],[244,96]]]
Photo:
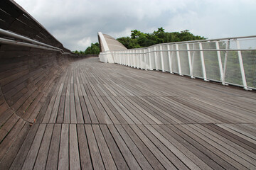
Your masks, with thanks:
[[[199,44],[195,43],[195,50],[199,50]],[[200,52],[193,52],[193,76],[203,78],[203,69]]]

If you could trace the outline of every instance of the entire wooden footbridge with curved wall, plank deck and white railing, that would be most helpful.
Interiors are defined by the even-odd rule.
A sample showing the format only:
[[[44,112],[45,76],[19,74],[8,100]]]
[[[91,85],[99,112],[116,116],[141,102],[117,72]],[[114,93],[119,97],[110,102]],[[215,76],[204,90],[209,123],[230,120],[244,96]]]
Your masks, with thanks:
[[[256,169],[255,37],[126,50],[99,33],[99,62],[14,1],[0,27],[0,169]]]

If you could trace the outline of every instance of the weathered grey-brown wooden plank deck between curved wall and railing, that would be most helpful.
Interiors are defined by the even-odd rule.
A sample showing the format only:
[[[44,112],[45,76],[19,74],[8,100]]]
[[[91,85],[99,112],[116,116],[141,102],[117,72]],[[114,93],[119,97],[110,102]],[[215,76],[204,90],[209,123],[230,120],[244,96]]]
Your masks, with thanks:
[[[256,169],[255,91],[97,58],[48,89],[3,169]]]

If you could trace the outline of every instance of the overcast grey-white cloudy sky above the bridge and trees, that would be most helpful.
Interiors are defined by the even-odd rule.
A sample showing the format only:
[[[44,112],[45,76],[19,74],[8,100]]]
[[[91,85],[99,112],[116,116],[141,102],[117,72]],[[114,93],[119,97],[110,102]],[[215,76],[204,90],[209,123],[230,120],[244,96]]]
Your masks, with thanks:
[[[255,0],[15,0],[70,50],[131,30],[190,30],[206,38],[256,35]]]

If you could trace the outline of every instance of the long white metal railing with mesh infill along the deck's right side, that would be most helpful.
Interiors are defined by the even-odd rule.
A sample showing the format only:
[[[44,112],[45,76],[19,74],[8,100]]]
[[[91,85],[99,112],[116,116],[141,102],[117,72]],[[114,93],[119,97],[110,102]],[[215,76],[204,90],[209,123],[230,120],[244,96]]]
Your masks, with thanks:
[[[146,48],[100,52],[102,62],[187,75],[256,89],[256,36],[171,42]]]

